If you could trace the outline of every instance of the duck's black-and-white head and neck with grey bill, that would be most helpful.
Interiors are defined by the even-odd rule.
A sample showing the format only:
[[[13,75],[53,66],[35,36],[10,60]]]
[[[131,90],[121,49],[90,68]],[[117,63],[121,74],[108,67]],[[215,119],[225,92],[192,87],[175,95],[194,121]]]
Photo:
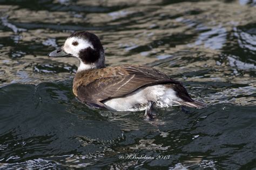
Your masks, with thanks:
[[[87,31],[71,34],[62,47],[50,52],[48,56],[75,56],[80,61],[77,72],[105,67],[105,54],[102,43],[95,34]]]

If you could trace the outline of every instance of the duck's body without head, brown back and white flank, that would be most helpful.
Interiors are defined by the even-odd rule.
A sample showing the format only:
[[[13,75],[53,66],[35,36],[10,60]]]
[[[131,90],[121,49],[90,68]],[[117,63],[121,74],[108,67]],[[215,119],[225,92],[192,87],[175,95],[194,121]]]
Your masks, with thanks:
[[[193,105],[186,89],[164,73],[147,66],[121,65],[78,72],[73,93],[84,103],[116,111]]]

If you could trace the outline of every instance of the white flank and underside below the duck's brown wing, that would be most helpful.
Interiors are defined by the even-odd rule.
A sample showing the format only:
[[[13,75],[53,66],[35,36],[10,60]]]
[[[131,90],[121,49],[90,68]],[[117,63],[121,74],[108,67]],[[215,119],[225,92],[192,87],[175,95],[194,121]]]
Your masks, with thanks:
[[[177,102],[182,100],[173,89],[166,88],[164,85],[155,85],[138,89],[125,97],[112,98],[104,104],[110,110],[139,111],[145,110],[149,101],[154,107],[163,108],[179,105]]]

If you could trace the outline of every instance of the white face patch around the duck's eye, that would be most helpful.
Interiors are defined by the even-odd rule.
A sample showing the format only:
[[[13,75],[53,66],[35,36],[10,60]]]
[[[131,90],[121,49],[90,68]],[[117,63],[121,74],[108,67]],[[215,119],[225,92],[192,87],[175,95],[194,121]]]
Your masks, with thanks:
[[[77,42],[77,45],[73,45],[73,42]],[[93,48],[93,45],[91,42],[83,39],[83,38],[78,38],[78,37],[71,37],[66,39],[65,44],[63,46],[63,50],[66,53],[72,54],[73,56],[76,56],[77,58],[79,57],[79,51],[81,49],[86,49],[88,47]]]

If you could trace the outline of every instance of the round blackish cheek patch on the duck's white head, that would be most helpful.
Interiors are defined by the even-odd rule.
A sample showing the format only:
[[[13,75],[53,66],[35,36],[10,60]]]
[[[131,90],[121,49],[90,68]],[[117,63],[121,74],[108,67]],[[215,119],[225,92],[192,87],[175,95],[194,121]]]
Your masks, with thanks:
[[[93,63],[97,61],[100,57],[99,51],[88,47],[86,49],[81,49],[79,51],[79,58],[82,59],[84,63]]]

